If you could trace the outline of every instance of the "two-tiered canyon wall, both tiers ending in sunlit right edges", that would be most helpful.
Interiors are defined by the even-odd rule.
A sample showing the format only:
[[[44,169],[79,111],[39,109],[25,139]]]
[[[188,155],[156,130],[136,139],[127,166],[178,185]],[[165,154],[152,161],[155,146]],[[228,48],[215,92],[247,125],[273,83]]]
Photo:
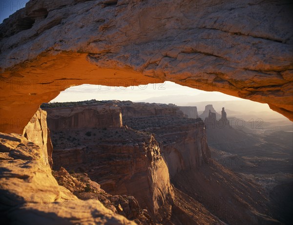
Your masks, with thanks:
[[[155,221],[170,218],[174,193],[154,136],[123,127],[121,108],[110,102],[54,106],[43,109],[52,132],[55,170],[63,166],[86,172],[108,193],[134,196]]]

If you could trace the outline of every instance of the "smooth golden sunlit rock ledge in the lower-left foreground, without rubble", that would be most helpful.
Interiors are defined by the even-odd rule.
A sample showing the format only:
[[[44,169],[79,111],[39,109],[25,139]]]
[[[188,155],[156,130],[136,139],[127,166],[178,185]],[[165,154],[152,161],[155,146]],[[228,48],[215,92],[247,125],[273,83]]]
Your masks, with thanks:
[[[58,185],[50,166],[42,161],[42,149],[23,135],[0,133],[0,143],[0,214],[4,224],[135,224],[99,200],[79,200]]]

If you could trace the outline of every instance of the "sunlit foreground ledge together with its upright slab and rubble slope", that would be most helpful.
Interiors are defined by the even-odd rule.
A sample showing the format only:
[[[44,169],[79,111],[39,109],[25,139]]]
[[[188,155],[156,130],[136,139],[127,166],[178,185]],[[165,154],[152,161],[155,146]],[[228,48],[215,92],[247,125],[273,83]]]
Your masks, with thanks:
[[[0,214],[4,223],[135,224],[128,218],[141,225],[153,224],[133,196],[111,196],[87,175],[76,179],[64,169],[51,170],[53,149],[46,115],[39,109],[23,135],[0,133]]]

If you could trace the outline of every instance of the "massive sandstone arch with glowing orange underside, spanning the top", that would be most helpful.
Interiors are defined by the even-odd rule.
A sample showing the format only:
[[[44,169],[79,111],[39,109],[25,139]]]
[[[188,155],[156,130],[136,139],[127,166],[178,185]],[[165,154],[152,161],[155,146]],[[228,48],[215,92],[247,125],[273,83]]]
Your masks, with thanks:
[[[61,90],[106,82],[173,81],[268,103],[293,120],[292,7],[289,0],[30,0],[0,25],[0,131],[22,133]]]

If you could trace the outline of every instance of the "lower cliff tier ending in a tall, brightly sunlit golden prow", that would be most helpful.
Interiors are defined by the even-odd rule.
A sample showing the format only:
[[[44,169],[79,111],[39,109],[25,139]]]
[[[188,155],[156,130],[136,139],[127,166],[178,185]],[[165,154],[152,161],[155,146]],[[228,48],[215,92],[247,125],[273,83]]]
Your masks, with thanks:
[[[85,135],[85,133],[90,136]],[[173,190],[166,163],[151,135],[132,129],[90,129],[58,133],[54,169],[86,172],[112,195],[132,195],[157,221],[170,215]],[[82,137],[82,138],[81,138]],[[76,146],[72,145],[77,139]],[[156,216],[155,216],[156,215]]]

